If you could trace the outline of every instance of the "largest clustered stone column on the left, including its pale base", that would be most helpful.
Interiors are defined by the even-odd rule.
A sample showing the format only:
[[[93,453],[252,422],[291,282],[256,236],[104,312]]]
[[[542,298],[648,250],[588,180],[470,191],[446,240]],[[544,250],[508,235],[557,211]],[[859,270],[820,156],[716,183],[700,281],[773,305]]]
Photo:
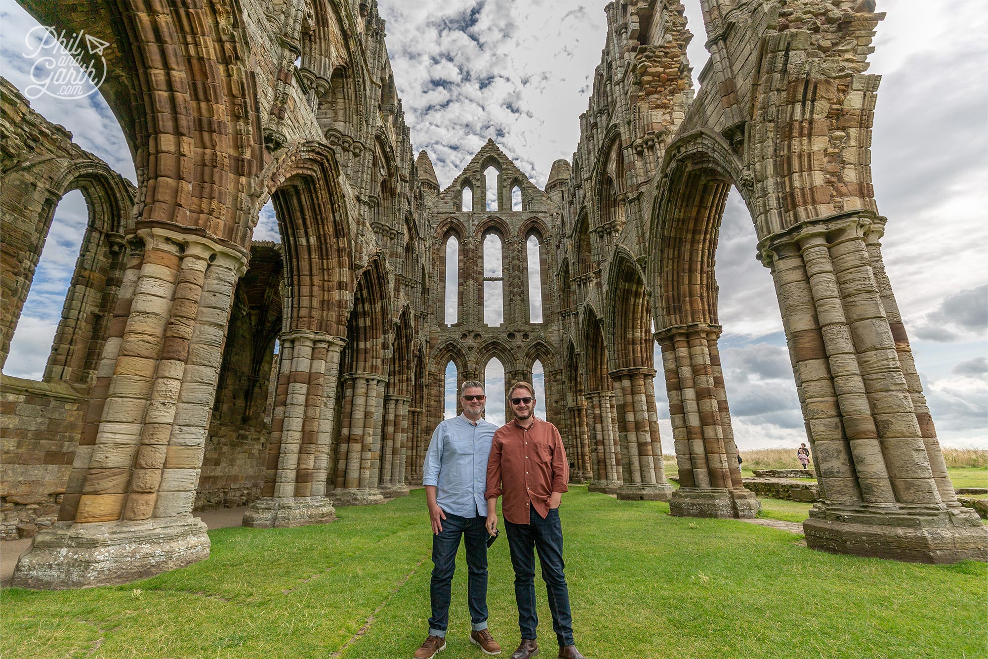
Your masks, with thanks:
[[[237,279],[247,255],[194,235],[137,232],[100,366],[107,391],[60,521],[35,536],[12,584],[121,584],[203,560],[192,516]],[[139,266],[136,259],[139,258]],[[125,311],[125,313],[124,313]],[[124,320],[125,319],[125,320]]]

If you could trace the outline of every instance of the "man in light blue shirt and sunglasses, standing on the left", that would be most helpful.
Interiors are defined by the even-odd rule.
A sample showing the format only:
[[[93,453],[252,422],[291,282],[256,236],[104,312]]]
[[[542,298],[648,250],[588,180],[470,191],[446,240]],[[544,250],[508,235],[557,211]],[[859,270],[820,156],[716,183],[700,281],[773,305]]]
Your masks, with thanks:
[[[462,535],[466,545],[467,602],[470,642],[485,654],[500,654],[501,646],[487,629],[487,456],[497,425],[481,418],[484,388],[475,380],[463,383],[463,414],[436,426],[422,469],[422,484],[433,528],[433,568],[429,637],[415,659],[432,659],[446,648],[450,623],[451,584],[456,551]]]

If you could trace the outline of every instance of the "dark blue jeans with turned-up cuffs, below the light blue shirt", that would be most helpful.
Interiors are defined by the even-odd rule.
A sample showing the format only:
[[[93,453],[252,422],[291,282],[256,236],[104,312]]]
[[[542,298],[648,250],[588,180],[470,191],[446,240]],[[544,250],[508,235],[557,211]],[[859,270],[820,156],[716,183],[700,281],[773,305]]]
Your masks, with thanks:
[[[444,511],[446,513],[446,511]],[[487,628],[487,529],[486,517],[461,518],[446,513],[443,531],[433,535],[433,578],[429,590],[432,601],[432,617],[429,633],[446,636],[450,626],[450,598],[453,572],[456,569],[456,551],[459,536],[466,544],[467,603],[474,631]]]

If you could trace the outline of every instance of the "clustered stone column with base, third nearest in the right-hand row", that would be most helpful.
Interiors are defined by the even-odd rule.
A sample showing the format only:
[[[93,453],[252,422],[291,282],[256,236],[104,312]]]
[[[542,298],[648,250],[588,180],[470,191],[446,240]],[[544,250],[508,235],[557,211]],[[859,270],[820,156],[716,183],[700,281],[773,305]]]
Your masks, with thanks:
[[[611,372],[620,436],[623,483],[617,488],[617,498],[621,500],[669,501],[672,496],[673,488],[666,482],[662,465],[654,379],[652,368]]]

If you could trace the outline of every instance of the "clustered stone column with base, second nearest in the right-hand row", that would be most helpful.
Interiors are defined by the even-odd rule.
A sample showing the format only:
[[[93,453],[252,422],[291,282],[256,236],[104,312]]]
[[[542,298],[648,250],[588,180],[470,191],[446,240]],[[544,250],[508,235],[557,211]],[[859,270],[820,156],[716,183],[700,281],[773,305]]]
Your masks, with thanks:
[[[757,498],[741,484],[733,434],[724,431],[730,417],[716,350],[719,335],[719,327],[705,324],[655,332],[679,466],[680,488],[669,504],[677,517],[754,518],[758,513]]]

